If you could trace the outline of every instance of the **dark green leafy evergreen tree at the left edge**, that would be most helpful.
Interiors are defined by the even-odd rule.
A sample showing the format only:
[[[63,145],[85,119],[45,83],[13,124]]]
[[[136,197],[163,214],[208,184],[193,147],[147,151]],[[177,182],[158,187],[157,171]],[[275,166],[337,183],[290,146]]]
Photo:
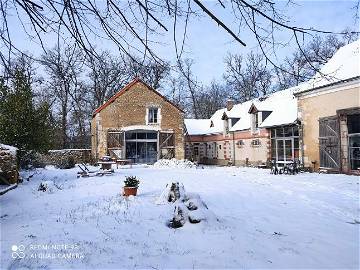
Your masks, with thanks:
[[[9,85],[0,79],[0,142],[20,152],[46,151],[51,146],[49,106],[35,106],[29,78],[16,69]]]

